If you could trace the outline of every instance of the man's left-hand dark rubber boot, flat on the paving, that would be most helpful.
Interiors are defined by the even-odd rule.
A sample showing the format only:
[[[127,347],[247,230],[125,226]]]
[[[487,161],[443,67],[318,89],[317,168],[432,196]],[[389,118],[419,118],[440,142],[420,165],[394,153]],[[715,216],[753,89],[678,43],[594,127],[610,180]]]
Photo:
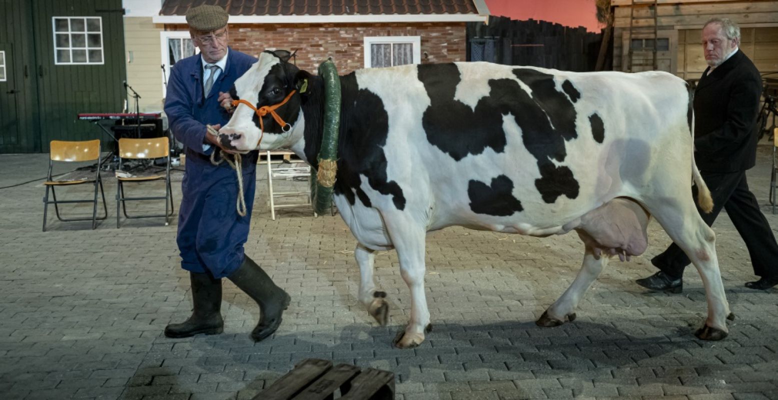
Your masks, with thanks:
[[[168,338],[188,338],[205,333],[216,335],[224,331],[222,319],[222,279],[213,279],[210,274],[189,272],[192,287],[192,315],[180,324],[165,327]]]

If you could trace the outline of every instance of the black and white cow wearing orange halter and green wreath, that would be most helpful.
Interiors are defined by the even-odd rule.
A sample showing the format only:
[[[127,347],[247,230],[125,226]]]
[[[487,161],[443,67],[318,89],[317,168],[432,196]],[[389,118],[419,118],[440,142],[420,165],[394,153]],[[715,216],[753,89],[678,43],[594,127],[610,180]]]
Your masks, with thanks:
[[[237,80],[233,96],[281,104],[282,129],[239,104],[219,131],[224,146],[291,149],[317,167],[323,83],[270,52]],[[411,317],[395,345],[418,346],[429,328],[425,237],[446,226],[548,236],[576,230],[584,261],[538,320],[574,310],[612,255],[643,253],[654,216],[703,277],[708,316],[697,335],[722,339],[730,316],[714,247],[700,218],[710,192],[692,156],[692,111],[682,79],[664,72],[562,72],[456,62],[370,68],[341,77],[335,204],[356,237],[359,300],[381,323],[388,306],[373,282],[374,251],[396,249]],[[260,138],[261,142],[260,142]]]

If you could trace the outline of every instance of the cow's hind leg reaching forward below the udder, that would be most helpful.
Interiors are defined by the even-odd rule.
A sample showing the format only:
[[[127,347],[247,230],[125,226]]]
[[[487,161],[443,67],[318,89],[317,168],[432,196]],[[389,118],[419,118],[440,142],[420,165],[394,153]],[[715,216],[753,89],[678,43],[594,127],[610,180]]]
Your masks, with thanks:
[[[558,326],[567,321],[576,319],[575,310],[578,303],[591,286],[594,279],[600,275],[602,268],[608,265],[609,256],[602,254],[599,258],[594,256],[594,248],[586,246],[584,262],[573,283],[559,296],[559,299],[548,307],[543,315],[535,321],[535,324],[543,327]]]

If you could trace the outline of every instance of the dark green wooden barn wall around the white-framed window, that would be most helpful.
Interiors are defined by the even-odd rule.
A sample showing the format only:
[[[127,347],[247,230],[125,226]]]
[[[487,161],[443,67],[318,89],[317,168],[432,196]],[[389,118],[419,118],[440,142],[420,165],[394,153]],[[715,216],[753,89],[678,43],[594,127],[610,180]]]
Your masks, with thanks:
[[[0,126],[18,125],[20,132],[0,132],[0,153],[47,152],[55,139],[110,142],[77,114],[119,112],[124,105],[123,15],[121,0],[0,0],[0,45],[13,46],[9,75],[22,77],[25,65],[28,71],[13,82],[20,91],[16,100],[5,94],[9,82],[0,82]],[[101,17],[103,65],[54,65],[54,16]],[[16,115],[6,115],[11,107]]]

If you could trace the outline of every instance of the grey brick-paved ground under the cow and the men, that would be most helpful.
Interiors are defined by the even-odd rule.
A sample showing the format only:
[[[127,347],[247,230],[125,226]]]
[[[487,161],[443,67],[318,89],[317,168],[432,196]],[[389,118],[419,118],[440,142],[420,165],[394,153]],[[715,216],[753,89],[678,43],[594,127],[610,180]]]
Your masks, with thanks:
[[[770,223],[769,146],[749,174]],[[46,155],[0,157],[0,186],[44,176]],[[264,177],[264,174],[259,174]],[[176,198],[180,189],[175,185]],[[576,235],[538,239],[450,228],[427,240],[426,290],[434,330],[418,349],[391,346],[408,318],[408,289],[392,252],[377,280],[394,307],[389,328],[356,301],[355,241],[339,216],[286,211],[276,221],[258,183],[247,253],[293,304],[275,337],[254,343],[258,310],[225,280],[223,335],[166,339],[191,310],[174,226],[110,219],[40,231],[40,181],[0,190],[0,398],[251,398],[310,357],[394,371],[398,399],[778,398],[778,290],[743,287],[748,253],[726,216],[714,226],[724,286],[738,319],[723,342],[692,332],[706,313],[696,272],[680,295],[645,293],[633,280],[669,243],[657,226],[633,261],[612,262],[578,319],[534,320],[573,279]],[[776,261],[778,262],[778,261]]]

